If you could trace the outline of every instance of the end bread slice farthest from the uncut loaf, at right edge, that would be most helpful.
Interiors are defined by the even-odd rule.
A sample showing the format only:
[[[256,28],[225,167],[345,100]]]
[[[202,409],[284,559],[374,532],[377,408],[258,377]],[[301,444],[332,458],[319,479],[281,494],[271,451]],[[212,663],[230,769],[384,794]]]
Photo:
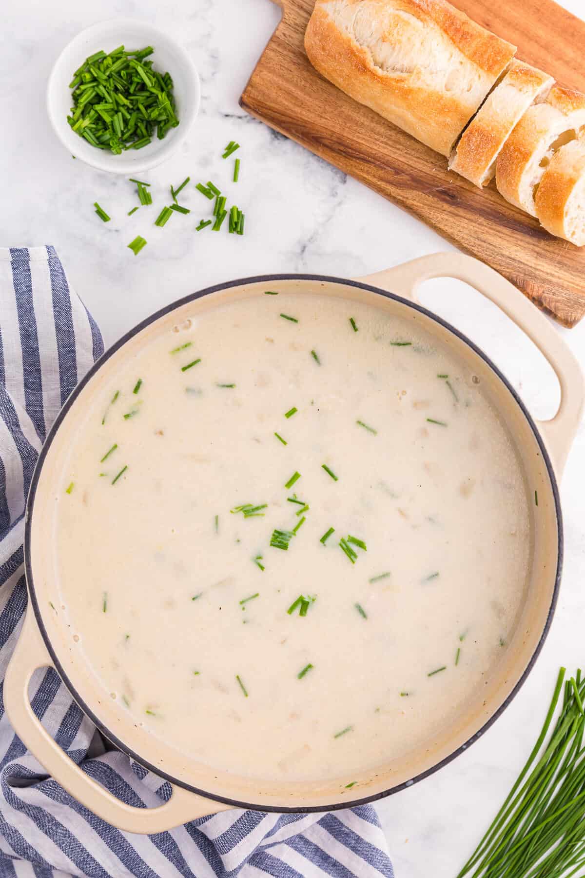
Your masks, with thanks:
[[[534,200],[536,215],[547,232],[577,247],[585,244],[585,137],[557,150]]]

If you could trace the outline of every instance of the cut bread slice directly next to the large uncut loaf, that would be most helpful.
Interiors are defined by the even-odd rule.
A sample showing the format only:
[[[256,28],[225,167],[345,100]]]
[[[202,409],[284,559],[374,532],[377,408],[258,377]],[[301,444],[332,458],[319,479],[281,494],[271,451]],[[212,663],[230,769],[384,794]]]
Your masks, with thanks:
[[[496,158],[517,122],[534,101],[546,97],[553,83],[553,77],[542,70],[512,61],[461,134],[449,168],[480,188],[487,186],[496,174]]]

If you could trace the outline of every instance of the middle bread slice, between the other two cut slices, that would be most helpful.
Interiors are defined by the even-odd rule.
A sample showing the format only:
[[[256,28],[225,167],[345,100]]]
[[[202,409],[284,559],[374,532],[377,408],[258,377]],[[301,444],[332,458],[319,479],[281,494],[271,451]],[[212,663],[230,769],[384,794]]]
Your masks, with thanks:
[[[554,85],[533,104],[506,140],[496,162],[496,185],[510,204],[536,216],[534,189],[556,149],[585,125],[585,95]]]

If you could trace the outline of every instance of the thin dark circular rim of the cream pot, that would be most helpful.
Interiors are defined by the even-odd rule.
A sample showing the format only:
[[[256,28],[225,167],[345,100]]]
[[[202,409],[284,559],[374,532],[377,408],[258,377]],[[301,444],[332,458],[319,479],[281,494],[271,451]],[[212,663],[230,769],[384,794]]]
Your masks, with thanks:
[[[431,768],[427,768],[424,772],[417,774],[415,777],[411,778],[409,781],[403,781],[403,783],[396,784],[394,787],[390,787],[389,789],[382,790],[382,792],[375,793],[373,795],[366,795],[359,799],[353,800],[344,800],[343,802],[334,802],[331,805],[305,805],[305,806],[297,806],[296,808],[287,808],[285,806],[276,806],[276,805],[260,805],[260,804],[252,804],[250,802],[241,802],[236,799],[230,799],[223,795],[215,795],[212,792],[208,792],[206,790],[197,788],[192,786],[185,781],[180,781],[175,778],[171,774],[167,774],[157,766],[153,766],[151,763],[147,762],[143,757],[139,755],[139,753],[134,752],[128,745],[126,745],[123,741],[121,741],[111,730],[107,728],[107,726],[95,715],[92,709],[85,703],[82,696],[77,692],[74,686],[71,685],[68,680],[68,674],[65,672],[63,666],[59,658],[54,651],[53,644],[51,643],[51,639],[48,635],[48,632],[45,627],[45,623],[43,622],[43,616],[39,607],[39,601],[37,600],[37,595],[34,589],[34,582],[32,578],[32,561],[31,561],[31,530],[32,530],[32,510],[34,507],[34,499],[37,491],[37,487],[39,485],[40,472],[42,470],[42,466],[46,457],[46,454],[51,446],[51,443],[54,441],[54,437],[61,426],[61,422],[64,420],[65,416],[68,414],[69,409],[75,402],[75,399],[82,392],[82,389],[89,383],[91,378],[96,374],[96,371],[101,369],[103,363],[106,363],[111,356],[113,356],[120,348],[124,347],[126,342],[129,342],[134,335],[138,335],[146,327],[150,326],[156,320],[159,320],[161,317],[164,317],[166,314],[175,311],[177,308],[189,304],[189,302],[193,302],[196,299],[202,299],[203,296],[210,295],[212,292],[219,292],[222,290],[232,289],[233,287],[244,286],[247,284],[260,284],[260,283],[272,283],[274,281],[282,281],[282,280],[299,280],[299,281],[317,281],[318,283],[332,283],[332,284],[342,284],[343,286],[353,286],[358,289],[367,290],[370,292],[378,293],[386,297],[387,299],[393,299],[396,302],[400,302],[402,305],[408,306],[412,308],[414,311],[418,313],[424,314],[424,316],[428,317],[430,320],[434,320],[439,326],[444,327],[449,332],[453,333],[457,338],[460,339],[461,342],[465,342],[467,347],[472,349],[474,353],[479,356],[484,363],[486,363],[491,371],[496,374],[496,377],[503,382],[508,392],[512,396],[512,399],[517,403],[522,414],[524,414],[524,418],[528,421],[531,431],[536,439],[537,444],[539,445],[540,453],[542,454],[542,459],[546,465],[546,471],[548,473],[548,478],[550,480],[551,489],[553,493],[554,500],[554,510],[557,521],[557,535],[558,535],[558,543],[557,543],[557,568],[554,577],[554,587],[553,587],[553,595],[551,598],[550,607],[548,608],[548,613],[546,615],[546,622],[544,628],[542,630],[542,634],[539,637],[539,643],[536,645],[534,652],[531,655],[531,659],[524,668],[524,672],[522,673],[519,680],[517,680],[516,685],[511,690],[508,697],[503,701],[500,707],[495,711],[495,713],[489,717],[489,719],[483,723],[482,727],[477,730],[471,738],[468,738],[467,741],[457,747],[452,753],[449,753],[445,759],[441,759],[436,765]],[[379,800],[385,799],[389,795],[394,795],[402,789],[409,788],[413,786],[413,784],[418,781],[423,781],[424,778],[428,777],[431,774],[434,774],[436,771],[439,771],[439,768],[446,766],[449,762],[453,761],[457,756],[459,756],[462,752],[465,752],[474,742],[481,738],[482,735],[491,727],[493,723],[496,722],[499,716],[503,714],[503,711],[509,706],[510,702],[516,697],[520,688],[523,686],[524,681],[528,677],[529,673],[531,673],[532,667],[534,666],[536,659],[539,657],[539,653],[542,650],[542,647],[545,643],[546,637],[548,635],[548,631],[550,630],[551,623],[553,622],[554,610],[556,608],[557,600],[559,597],[559,588],[560,588],[560,575],[562,572],[562,562],[563,562],[563,549],[564,549],[564,537],[563,537],[563,524],[562,524],[562,515],[560,511],[560,494],[559,487],[557,485],[556,477],[553,471],[553,464],[546,450],[545,443],[542,439],[542,436],[539,433],[539,429],[536,426],[531,414],[528,412],[527,408],[524,406],[524,402],[520,399],[516,390],[510,385],[508,379],[503,375],[503,372],[498,369],[496,363],[493,363],[492,360],[487,356],[481,348],[479,348],[471,339],[467,338],[467,335],[460,332],[459,329],[453,327],[451,323],[447,320],[443,320],[442,317],[439,317],[438,314],[433,313],[428,308],[418,304],[417,302],[412,302],[410,299],[405,299],[403,296],[398,296],[396,293],[389,292],[387,290],[382,290],[380,287],[376,287],[372,284],[362,283],[359,280],[349,280],[345,277],[333,277],[331,275],[316,275],[316,274],[296,274],[294,272],[288,272],[283,274],[266,274],[266,275],[256,275],[253,277],[241,277],[238,280],[234,281],[226,281],[223,284],[214,284],[212,286],[205,287],[203,290],[198,290],[196,292],[189,293],[189,295],[182,297],[182,299],[177,299],[174,302],[171,302],[169,305],[162,307],[159,311],[151,314],[149,317],[146,317],[144,320],[141,320],[136,326],[129,329],[124,335],[122,335],[117,342],[114,342],[111,345],[111,348],[107,349],[103,355],[96,360],[88,372],[83,376],[83,378],[79,381],[77,385],[75,385],[74,390],[68,396],[68,399],[65,401],[63,406],[61,407],[61,411],[55,418],[53,426],[50,428],[49,432],[46,435],[45,443],[43,444],[37,462],[34,467],[34,471],[32,473],[31,486],[28,493],[28,498],[26,500],[26,510],[25,510],[25,574],[26,574],[26,586],[28,589],[28,594],[30,595],[32,610],[34,612],[36,623],[39,627],[39,632],[43,641],[46,645],[46,650],[51,657],[51,660],[54,663],[54,667],[61,677],[61,680],[68,688],[69,694],[72,695],[77,705],[82,709],[85,716],[89,716],[96,728],[103,734],[105,738],[107,738],[113,745],[118,747],[118,750],[124,752],[131,759],[134,759],[139,765],[145,767],[148,771],[153,772],[157,776],[161,777],[163,780],[168,781],[171,784],[174,784],[177,787],[181,787],[183,789],[189,790],[189,792],[195,793],[196,795],[202,795],[204,798],[210,799],[215,802],[223,802],[227,805],[232,805],[235,808],[243,808],[246,810],[261,810],[265,812],[275,812],[282,814],[309,814],[313,812],[321,812],[321,811],[333,811],[333,810],[343,810],[347,808],[355,808],[359,805],[365,805],[369,802],[377,802]]]

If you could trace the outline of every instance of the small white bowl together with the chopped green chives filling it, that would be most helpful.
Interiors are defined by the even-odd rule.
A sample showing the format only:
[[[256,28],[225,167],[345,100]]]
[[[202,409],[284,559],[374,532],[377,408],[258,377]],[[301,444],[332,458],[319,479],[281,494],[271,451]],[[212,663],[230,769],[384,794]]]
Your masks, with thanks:
[[[199,109],[199,77],[189,53],[145,21],[91,25],[54,63],[46,108],[75,158],[114,174],[164,162]]]

